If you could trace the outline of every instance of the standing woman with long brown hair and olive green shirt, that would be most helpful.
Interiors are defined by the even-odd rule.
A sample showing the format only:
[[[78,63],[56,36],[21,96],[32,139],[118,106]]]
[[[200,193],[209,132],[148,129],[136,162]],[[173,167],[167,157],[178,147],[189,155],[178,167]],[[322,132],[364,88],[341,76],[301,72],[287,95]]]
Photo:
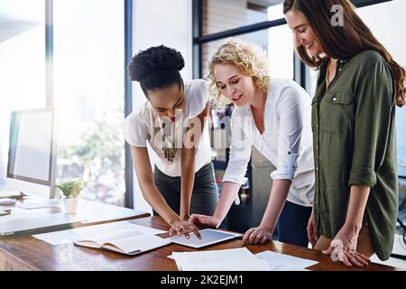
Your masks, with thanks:
[[[316,187],[308,235],[346,266],[392,251],[398,210],[395,107],[405,71],[347,0],[285,0],[303,62],[319,70],[312,101]]]

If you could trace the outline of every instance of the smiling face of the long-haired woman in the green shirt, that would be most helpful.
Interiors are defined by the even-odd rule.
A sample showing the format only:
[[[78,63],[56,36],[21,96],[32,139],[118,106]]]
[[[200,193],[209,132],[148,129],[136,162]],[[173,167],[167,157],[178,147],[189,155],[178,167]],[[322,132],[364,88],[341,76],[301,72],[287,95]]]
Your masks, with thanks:
[[[318,57],[323,53],[318,36],[305,14],[297,9],[291,9],[285,14],[285,18],[293,33],[295,47],[303,46],[311,57]]]

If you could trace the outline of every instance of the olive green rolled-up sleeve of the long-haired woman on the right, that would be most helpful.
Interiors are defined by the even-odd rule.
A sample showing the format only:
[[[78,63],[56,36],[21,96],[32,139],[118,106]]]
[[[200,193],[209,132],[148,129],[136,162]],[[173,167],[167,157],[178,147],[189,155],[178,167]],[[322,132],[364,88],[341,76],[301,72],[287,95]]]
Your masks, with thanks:
[[[392,74],[383,59],[365,72],[355,101],[354,154],[348,184],[374,187],[395,109]]]

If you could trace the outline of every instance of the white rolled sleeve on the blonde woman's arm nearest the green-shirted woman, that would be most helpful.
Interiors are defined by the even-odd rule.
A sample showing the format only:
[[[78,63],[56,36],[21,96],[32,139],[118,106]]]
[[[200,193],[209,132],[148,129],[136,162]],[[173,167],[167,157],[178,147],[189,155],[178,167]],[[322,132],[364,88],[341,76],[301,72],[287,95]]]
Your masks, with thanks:
[[[293,180],[298,168],[300,138],[303,130],[303,99],[296,89],[281,91],[277,113],[280,117],[278,137],[278,158],[273,180]]]

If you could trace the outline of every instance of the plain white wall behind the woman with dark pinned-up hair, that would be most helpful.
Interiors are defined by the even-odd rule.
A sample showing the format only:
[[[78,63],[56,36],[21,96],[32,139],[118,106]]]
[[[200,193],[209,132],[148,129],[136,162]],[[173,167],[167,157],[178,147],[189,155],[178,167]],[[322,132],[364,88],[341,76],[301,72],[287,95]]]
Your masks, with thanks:
[[[151,46],[164,44],[183,55],[183,79],[192,77],[192,5],[190,0],[134,1],[134,54]],[[145,101],[138,82],[133,82],[133,108]],[[151,155],[151,154],[150,154]],[[152,212],[143,199],[134,172],[134,209]]]

